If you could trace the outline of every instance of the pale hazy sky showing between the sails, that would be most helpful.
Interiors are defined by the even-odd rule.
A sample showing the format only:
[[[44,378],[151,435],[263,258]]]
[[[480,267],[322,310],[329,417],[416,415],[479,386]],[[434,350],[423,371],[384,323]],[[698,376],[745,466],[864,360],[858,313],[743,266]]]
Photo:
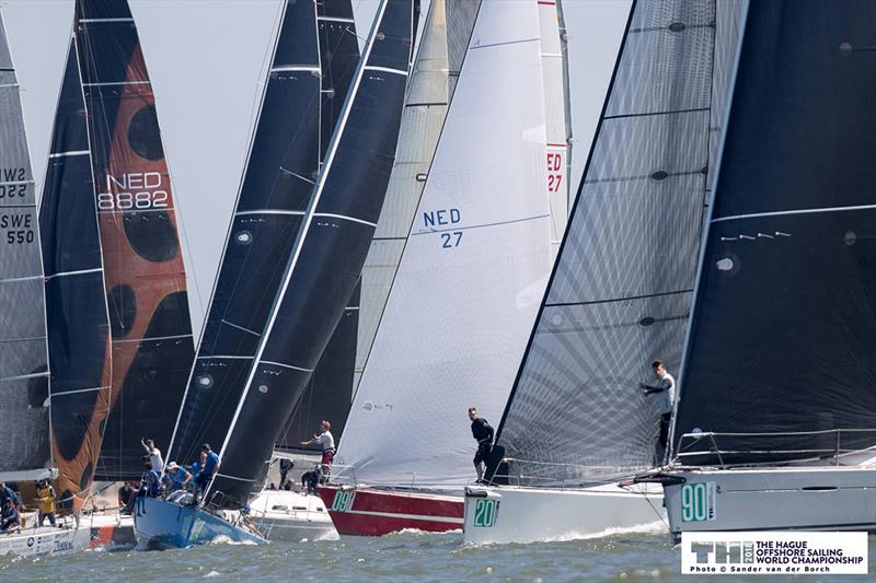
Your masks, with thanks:
[[[283,1],[129,0],[157,96],[187,242],[195,334],[209,302]],[[378,0],[353,0],[353,5],[357,31],[365,36]],[[587,158],[630,0],[564,0],[563,5],[574,133],[569,184],[574,187]],[[426,7],[424,1],[424,13]],[[22,88],[39,196],[73,0],[0,0],[0,9]]]

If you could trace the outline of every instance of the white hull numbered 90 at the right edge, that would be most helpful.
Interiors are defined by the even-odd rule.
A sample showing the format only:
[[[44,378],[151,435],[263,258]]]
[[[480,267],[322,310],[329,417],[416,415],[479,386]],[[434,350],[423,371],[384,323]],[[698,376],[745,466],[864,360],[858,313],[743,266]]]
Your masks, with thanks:
[[[665,487],[676,538],[684,530],[876,532],[876,467],[702,469],[662,476],[684,479]]]

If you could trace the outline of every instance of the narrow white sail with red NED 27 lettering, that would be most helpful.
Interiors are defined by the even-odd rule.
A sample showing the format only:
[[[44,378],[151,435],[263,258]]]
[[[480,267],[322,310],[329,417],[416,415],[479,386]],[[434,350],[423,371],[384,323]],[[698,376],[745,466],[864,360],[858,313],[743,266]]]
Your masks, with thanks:
[[[572,159],[569,144],[572,120],[566,95],[566,47],[560,35],[560,5],[554,0],[541,0],[538,5],[548,147],[545,188],[551,201],[551,245],[555,257],[563,241],[569,211],[568,167]]]

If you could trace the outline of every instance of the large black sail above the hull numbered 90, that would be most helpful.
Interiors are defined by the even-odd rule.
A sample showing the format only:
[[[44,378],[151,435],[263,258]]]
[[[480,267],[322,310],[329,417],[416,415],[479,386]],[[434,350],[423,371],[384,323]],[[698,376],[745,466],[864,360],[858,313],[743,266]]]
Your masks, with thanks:
[[[751,2],[702,258],[675,453],[831,455],[876,428],[876,4]],[[696,431],[725,452],[702,454]],[[782,435],[797,432],[799,435]],[[840,447],[876,443],[839,435]]]

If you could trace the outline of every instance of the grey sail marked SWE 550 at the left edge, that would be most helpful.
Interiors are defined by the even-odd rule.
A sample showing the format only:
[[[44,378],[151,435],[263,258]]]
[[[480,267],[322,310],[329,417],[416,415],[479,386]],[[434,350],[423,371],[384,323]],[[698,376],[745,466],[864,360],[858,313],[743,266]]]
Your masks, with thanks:
[[[0,15],[0,481],[48,477],[48,354],[34,178]]]

